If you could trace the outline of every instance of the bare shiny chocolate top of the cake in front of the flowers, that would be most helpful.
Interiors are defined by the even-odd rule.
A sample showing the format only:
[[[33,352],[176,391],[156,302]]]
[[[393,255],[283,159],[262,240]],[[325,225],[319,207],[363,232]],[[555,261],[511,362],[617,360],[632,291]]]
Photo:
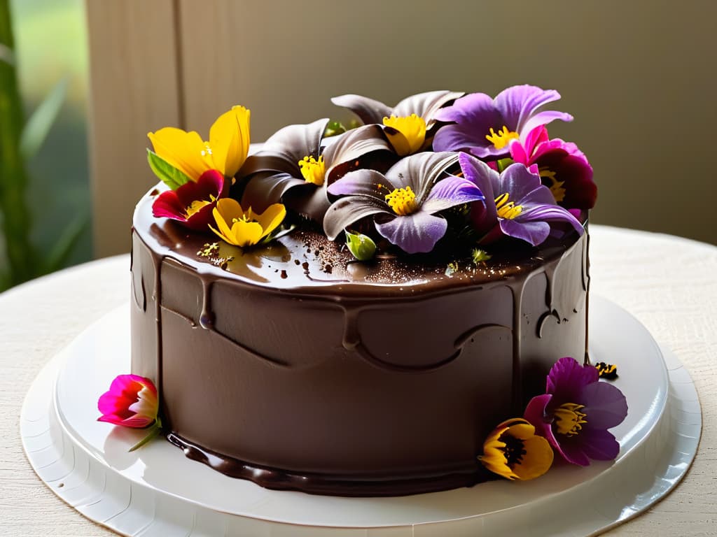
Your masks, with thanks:
[[[174,259],[196,271],[274,289],[321,288],[337,291],[337,284],[349,294],[406,296],[450,289],[457,286],[485,285],[528,274],[546,261],[559,258],[577,241],[576,233],[552,238],[539,247],[528,244],[493,248],[487,261],[475,262],[457,253],[424,254],[407,259],[396,254],[379,254],[370,261],[358,261],[344,243],[328,241],[317,231],[295,230],[255,248],[238,248],[217,241],[209,233],[190,231],[174,221],[158,221],[151,216],[156,189],[147,193],[136,208],[133,225],[141,239],[156,254]],[[420,261],[420,262],[417,262]]]

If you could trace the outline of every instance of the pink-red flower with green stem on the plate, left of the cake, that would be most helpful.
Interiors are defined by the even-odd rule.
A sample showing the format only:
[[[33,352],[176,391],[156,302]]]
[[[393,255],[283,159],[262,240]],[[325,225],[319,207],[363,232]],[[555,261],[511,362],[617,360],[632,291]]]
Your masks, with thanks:
[[[136,374],[120,374],[110,384],[110,390],[100,396],[98,410],[102,416],[100,422],[108,422],[122,427],[147,429],[148,435],[133,446],[130,451],[140,448],[159,434],[159,402],[154,383]]]

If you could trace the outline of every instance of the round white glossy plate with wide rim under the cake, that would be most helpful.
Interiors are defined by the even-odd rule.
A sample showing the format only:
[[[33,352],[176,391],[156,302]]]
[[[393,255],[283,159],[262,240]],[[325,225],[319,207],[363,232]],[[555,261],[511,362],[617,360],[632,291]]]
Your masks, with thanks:
[[[591,296],[590,354],[618,364],[630,412],[612,432],[612,463],[556,464],[537,480],[504,480],[398,498],[336,498],[227,478],[143,431],[97,422],[98,397],[129,372],[123,306],[42,370],[21,435],[44,483],[91,520],[128,536],[580,536],[627,520],[666,495],[697,450],[701,412],[688,372],[644,326]]]

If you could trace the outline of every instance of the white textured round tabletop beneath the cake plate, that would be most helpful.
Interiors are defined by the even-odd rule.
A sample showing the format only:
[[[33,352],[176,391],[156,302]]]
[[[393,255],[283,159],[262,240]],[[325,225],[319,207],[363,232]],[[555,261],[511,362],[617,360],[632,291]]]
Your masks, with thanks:
[[[590,228],[591,293],[630,311],[695,381],[697,457],[667,498],[609,536],[717,535],[717,247],[668,235]],[[129,257],[101,259],[0,294],[0,535],[111,536],[57,498],[22,452],[19,415],[34,377],[87,325],[128,300]],[[619,364],[621,359],[615,357]]]

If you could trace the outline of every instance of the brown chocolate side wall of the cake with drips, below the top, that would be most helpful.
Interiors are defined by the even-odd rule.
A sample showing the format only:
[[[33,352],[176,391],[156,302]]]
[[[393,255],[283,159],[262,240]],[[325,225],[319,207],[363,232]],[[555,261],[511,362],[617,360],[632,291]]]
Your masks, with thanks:
[[[208,278],[138,236],[133,256],[133,372],[158,380],[171,430],[227,461],[477,475],[485,435],[586,346],[586,236],[517,279],[386,304]]]

